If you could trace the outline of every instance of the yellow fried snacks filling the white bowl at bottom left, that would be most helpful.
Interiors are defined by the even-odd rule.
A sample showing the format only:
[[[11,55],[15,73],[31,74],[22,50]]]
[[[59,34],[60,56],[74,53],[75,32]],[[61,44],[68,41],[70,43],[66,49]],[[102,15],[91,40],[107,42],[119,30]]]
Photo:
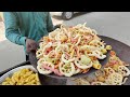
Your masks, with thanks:
[[[25,68],[6,78],[1,85],[40,85],[40,81],[38,73]]]

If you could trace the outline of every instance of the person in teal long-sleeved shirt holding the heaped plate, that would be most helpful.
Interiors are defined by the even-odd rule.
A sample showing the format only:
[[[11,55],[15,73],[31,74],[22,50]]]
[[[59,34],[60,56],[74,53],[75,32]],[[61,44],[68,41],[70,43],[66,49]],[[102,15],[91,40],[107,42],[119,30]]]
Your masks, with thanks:
[[[6,39],[24,45],[26,60],[28,53],[37,50],[37,42],[60,27],[60,25],[53,26],[49,12],[4,12],[3,17]]]

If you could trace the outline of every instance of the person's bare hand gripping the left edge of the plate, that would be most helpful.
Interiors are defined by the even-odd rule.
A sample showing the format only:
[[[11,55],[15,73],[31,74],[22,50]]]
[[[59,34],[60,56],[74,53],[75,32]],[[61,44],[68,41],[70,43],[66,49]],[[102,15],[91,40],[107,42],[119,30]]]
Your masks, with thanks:
[[[31,51],[36,51],[36,50],[37,50],[36,41],[31,39],[26,39],[26,52],[30,53]]]

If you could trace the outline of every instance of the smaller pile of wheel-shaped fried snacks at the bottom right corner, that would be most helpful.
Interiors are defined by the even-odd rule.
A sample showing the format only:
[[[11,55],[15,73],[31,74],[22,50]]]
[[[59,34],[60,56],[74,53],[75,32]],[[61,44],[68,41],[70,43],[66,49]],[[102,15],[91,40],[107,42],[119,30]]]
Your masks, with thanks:
[[[102,70],[95,72],[96,81],[92,85],[122,85],[130,75],[128,64],[117,57],[116,52],[110,51],[108,63]]]

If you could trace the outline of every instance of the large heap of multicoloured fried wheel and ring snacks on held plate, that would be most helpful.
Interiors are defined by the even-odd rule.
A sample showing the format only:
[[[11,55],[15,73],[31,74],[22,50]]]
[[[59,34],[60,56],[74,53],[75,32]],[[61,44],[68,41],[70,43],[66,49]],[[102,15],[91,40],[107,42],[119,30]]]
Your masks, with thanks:
[[[77,73],[87,73],[92,66],[100,69],[100,63],[95,65],[93,60],[104,59],[106,53],[103,51],[106,51],[105,43],[98,37],[96,31],[87,27],[84,23],[74,27],[62,25],[61,28],[50,32],[49,36],[42,38],[40,48],[36,55],[38,59],[43,58],[46,63],[54,65],[55,69],[62,72],[63,75],[72,77]],[[81,56],[87,57],[87,59]],[[95,58],[91,59],[91,57]],[[62,67],[64,69],[60,69],[60,63],[63,63]],[[65,66],[77,68],[70,69]],[[46,68],[40,70],[44,71]],[[72,70],[74,72],[68,75],[67,73]]]

